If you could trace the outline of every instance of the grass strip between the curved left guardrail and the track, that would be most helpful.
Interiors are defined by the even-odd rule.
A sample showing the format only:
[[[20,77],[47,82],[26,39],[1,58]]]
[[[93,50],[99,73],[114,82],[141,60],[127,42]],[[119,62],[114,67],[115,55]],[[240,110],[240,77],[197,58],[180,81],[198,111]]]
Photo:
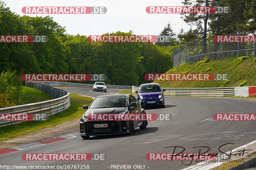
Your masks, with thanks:
[[[93,99],[90,97],[84,97],[76,94],[70,94],[69,96],[71,106],[67,110],[49,116],[49,119],[46,121],[27,121],[20,124],[1,127],[0,141],[19,135],[25,135],[33,131],[62,124],[68,120],[82,117],[83,113],[85,112],[82,106],[89,105]],[[78,124],[79,123],[77,123],[77,125]]]

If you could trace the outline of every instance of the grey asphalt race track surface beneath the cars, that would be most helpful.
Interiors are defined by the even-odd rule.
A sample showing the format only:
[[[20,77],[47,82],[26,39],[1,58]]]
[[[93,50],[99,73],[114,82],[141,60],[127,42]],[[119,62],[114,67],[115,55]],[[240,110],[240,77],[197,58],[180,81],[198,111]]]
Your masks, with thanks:
[[[69,93],[100,96],[91,88],[62,87]],[[108,89],[117,92],[120,89]],[[228,152],[256,140],[255,121],[213,121],[215,113],[256,113],[256,100],[211,97],[165,96],[165,108],[146,109],[147,113],[171,114],[171,120],[149,121],[147,129],[136,128],[132,135],[80,136],[0,155],[1,165],[89,165],[90,169],[113,169],[111,165],[145,165],[147,170],[182,169],[180,160],[147,160],[147,153],[172,153],[173,147],[185,148],[184,153],[198,153],[196,146],[210,147],[208,153]],[[81,113],[82,116],[83,113]],[[79,125],[79,122],[77,122]],[[165,148],[169,147],[169,148]],[[175,151],[181,151],[176,149]],[[105,154],[105,160],[88,161],[24,161],[24,153],[90,153]],[[190,161],[183,161],[189,164]],[[143,167],[143,166],[142,166]],[[133,168],[131,168],[133,169]]]

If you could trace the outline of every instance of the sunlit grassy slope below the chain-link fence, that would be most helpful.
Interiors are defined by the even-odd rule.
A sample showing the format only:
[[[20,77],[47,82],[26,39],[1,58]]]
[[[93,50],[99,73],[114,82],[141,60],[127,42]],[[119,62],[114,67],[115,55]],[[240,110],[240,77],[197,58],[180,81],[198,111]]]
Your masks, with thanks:
[[[153,81],[162,88],[211,88],[256,85],[256,62],[252,58],[230,58],[223,61],[209,61],[183,64],[170,69],[170,74],[203,73],[203,74],[228,74],[230,81]]]

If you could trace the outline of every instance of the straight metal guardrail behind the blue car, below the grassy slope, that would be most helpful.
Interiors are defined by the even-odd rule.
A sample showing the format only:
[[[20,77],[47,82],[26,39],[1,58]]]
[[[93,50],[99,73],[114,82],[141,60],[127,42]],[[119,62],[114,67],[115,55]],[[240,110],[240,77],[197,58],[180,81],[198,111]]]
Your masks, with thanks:
[[[164,95],[167,96],[233,96],[235,87],[220,88],[161,88],[165,89]],[[132,86],[132,93],[139,90],[139,87]]]

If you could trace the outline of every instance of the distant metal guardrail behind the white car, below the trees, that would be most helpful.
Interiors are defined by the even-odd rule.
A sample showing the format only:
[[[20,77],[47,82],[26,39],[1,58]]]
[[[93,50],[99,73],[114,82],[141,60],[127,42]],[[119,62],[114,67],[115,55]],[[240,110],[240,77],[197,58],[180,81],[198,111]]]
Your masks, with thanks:
[[[93,84],[83,84],[83,83],[70,83],[63,81],[29,81],[36,82],[39,84],[44,84],[51,87],[92,87]],[[121,85],[107,85],[108,88],[117,88],[117,89],[132,89],[132,86],[121,86]]]

